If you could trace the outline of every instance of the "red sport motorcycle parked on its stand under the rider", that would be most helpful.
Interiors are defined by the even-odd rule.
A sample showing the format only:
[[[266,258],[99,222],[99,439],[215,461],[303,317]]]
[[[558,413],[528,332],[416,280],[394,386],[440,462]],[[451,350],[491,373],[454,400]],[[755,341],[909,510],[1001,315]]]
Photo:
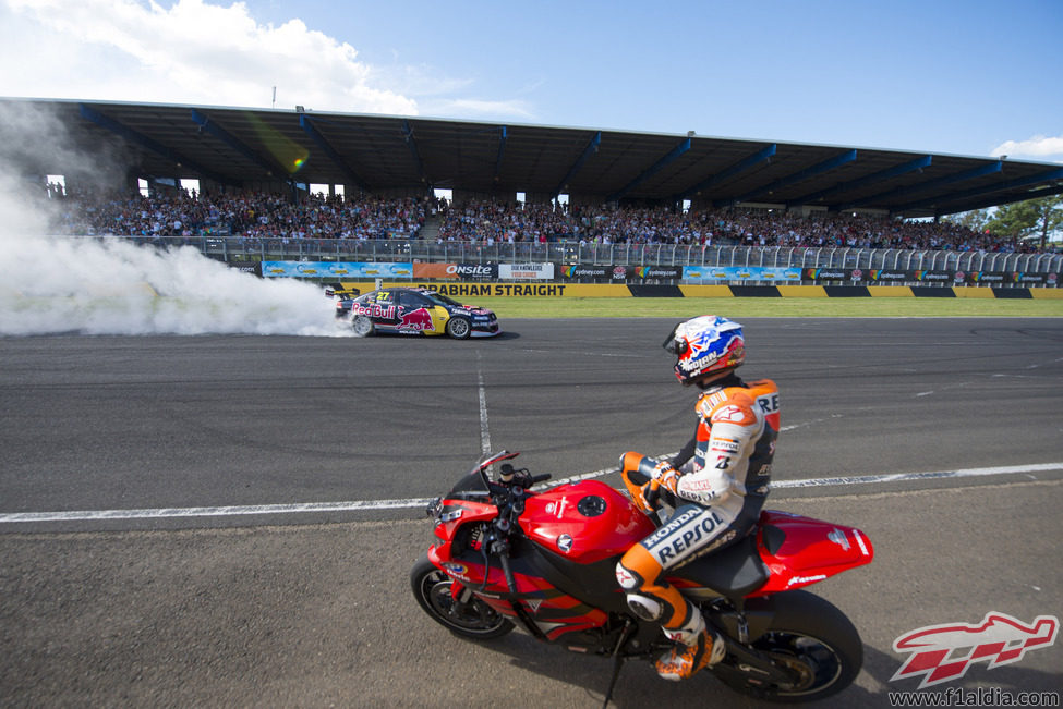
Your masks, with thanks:
[[[428,505],[437,541],[411,571],[413,595],[463,638],[502,637],[519,624],[540,640],[612,658],[608,706],[625,660],[653,661],[672,647],[660,624],[630,611],[615,574],[624,552],[659,526],[657,512],[600,480],[532,490],[551,476],[514,468],[517,455],[486,456]],[[799,589],[873,557],[859,529],[764,510],[745,539],[667,579],[724,637],[727,653],[712,674],[756,698],[811,701],[856,679],[863,646],[841,610]]]

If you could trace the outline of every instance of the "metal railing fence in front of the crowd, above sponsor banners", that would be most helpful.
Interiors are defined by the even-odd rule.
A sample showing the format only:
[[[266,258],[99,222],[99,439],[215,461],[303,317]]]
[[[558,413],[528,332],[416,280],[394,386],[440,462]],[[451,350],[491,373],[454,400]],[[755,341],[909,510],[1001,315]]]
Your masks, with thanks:
[[[898,270],[1063,272],[1063,254],[804,248],[676,244],[500,243],[419,240],[257,240],[240,236],[104,236],[156,246],[188,245],[226,261],[422,261],[605,266],[764,266]]]

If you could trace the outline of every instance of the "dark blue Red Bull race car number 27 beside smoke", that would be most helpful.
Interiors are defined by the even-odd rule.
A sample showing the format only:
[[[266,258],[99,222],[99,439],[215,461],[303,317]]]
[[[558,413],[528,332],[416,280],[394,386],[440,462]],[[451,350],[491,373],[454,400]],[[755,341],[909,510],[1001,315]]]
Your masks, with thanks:
[[[350,318],[360,338],[375,332],[446,334],[456,340],[498,334],[491,310],[470,307],[420,288],[385,288],[354,298],[340,298],[336,315]]]

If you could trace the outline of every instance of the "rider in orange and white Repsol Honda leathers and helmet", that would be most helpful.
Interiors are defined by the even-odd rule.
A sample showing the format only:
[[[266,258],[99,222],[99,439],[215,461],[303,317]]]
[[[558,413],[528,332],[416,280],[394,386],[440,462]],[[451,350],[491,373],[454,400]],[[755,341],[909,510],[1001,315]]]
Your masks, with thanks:
[[[778,432],[778,389],[769,379],[742,381],[741,326],[714,315],[680,322],[664,342],[676,355],[675,374],[700,390],[694,436],[672,461],[633,451],[620,457],[624,482],[645,511],[651,488],[674,514],[629,549],[616,565],[628,606],[656,621],[676,646],[656,662],[666,680],[685,680],[724,658],[723,638],[665,572],[718,551],[753,528],[771,475]]]

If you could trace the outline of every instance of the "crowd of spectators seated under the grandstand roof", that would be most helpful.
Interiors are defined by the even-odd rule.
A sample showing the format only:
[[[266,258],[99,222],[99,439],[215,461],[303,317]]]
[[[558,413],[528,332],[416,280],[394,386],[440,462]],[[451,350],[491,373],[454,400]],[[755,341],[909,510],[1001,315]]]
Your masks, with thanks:
[[[851,247],[983,252],[1035,250],[959,224],[899,221],[851,213],[765,209],[679,211],[668,208],[588,207],[372,195],[174,191],[152,196],[52,195],[55,229],[68,234],[238,236],[251,240],[418,239],[432,218],[439,242],[584,244],[644,243],[759,247]]]

